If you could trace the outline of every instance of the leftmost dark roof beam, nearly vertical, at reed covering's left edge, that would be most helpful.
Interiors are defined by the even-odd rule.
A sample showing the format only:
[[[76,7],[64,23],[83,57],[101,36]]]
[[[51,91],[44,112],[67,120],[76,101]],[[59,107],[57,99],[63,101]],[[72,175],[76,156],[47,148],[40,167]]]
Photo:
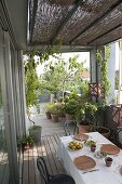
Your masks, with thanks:
[[[33,28],[35,28],[35,23],[36,23],[37,9],[38,9],[38,0],[33,0],[32,21],[30,22],[30,27],[29,27],[30,43],[32,42],[32,35],[33,35]]]

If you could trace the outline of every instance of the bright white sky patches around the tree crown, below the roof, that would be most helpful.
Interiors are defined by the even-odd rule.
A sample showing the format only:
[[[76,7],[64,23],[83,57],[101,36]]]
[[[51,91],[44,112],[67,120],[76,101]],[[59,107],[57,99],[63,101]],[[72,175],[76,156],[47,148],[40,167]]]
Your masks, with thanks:
[[[86,60],[84,67],[86,67],[86,68],[90,67],[90,52],[69,52],[69,53],[62,54],[63,58],[66,58],[66,60],[68,60],[69,57],[72,57],[73,55],[79,55],[79,58],[78,58],[79,63],[82,63],[82,62],[84,62],[84,60]],[[44,64],[39,65],[37,67],[38,76],[43,74],[43,68],[44,68]]]

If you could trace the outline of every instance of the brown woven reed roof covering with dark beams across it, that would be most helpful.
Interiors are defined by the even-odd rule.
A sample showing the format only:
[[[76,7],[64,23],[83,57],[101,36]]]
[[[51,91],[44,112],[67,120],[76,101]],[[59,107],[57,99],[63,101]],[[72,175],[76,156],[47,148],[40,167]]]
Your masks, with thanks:
[[[30,0],[29,43],[96,47],[122,38],[122,0]]]

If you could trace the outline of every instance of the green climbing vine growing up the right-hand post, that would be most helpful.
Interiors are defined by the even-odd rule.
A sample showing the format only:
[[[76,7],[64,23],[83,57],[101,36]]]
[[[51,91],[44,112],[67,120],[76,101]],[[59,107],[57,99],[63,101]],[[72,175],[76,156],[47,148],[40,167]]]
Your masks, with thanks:
[[[106,47],[105,57],[101,55],[101,52],[96,53],[97,63],[100,66],[100,77],[101,77],[101,86],[105,91],[105,98],[109,95],[110,91],[110,81],[108,79],[108,62],[110,57],[110,48]]]

